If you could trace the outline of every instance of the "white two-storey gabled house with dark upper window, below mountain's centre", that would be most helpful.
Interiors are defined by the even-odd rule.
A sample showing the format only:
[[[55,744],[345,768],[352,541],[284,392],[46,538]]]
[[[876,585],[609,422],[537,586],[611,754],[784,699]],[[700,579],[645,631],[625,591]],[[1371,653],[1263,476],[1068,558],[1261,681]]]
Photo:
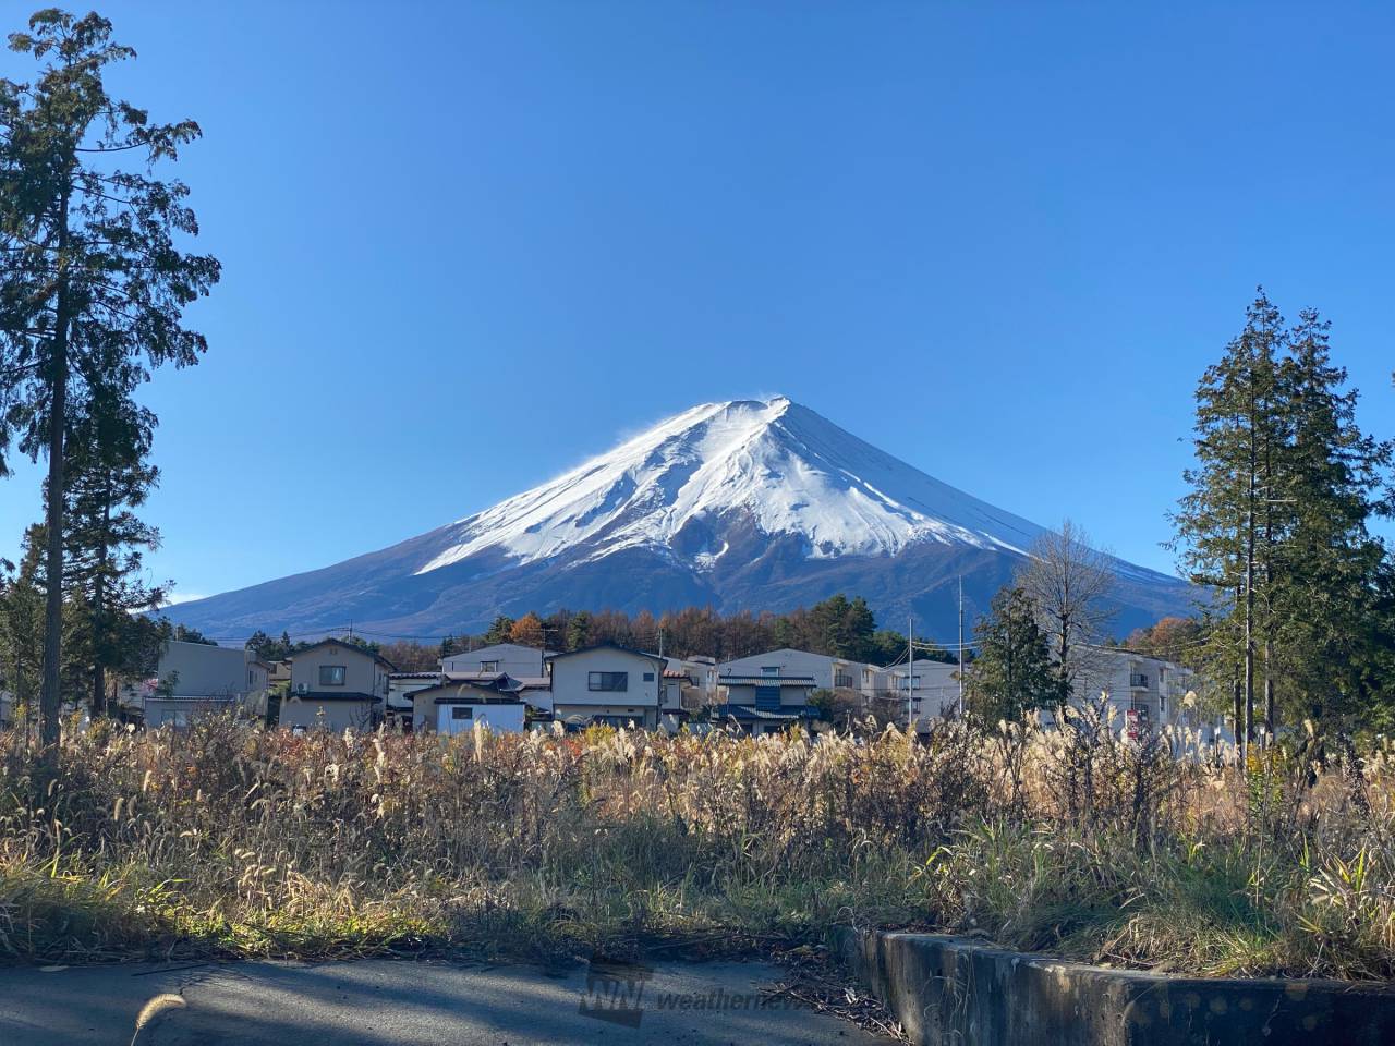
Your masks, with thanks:
[[[668,660],[614,643],[551,654],[552,718],[568,727],[610,724],[653,729]],[[677,688],[675,688],[677,689]]]

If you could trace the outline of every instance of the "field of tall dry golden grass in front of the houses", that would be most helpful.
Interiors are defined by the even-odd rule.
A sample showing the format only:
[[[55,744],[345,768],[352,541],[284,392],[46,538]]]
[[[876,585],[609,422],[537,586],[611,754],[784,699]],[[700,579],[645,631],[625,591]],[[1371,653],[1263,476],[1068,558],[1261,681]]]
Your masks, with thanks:
[[[975,934],[1201,975],[1395,976],[1384,748],[1173,760],[1078,715],[928,741],[0,735],[0,961],[557,961]]]

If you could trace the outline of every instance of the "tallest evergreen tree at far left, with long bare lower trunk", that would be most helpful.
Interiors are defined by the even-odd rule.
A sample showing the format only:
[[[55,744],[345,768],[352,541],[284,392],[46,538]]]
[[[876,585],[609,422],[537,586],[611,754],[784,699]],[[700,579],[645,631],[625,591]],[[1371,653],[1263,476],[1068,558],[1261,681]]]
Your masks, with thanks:
[[[106,67],[134,57],[98,14],[46,8],[10,49],[32,57],[33,82],[0,79],[0,453],[47,456],[46,628],[42,739],[59,738],[61,697],[63,537],[71,413],[116,364],[187,365],[205,350],[181,322],[186,305],[218,282],[211,257],[186,254],[197,234],[177,181],[149,169],[177,159],[198,124],[151,123],[113,99]],[[144,158],[126,170],[123,158]],[[0,457],[3,469],[3,457]]]

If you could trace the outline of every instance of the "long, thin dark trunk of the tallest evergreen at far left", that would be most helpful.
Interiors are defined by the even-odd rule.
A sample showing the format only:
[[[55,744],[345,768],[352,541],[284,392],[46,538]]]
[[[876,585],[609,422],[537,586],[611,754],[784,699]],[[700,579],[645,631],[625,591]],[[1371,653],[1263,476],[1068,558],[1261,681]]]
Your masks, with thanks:
[[[43,690],[39,695],[39,741],[57,753],[63,707],[63,450],[68,406],[68,194],[59,201],[59,287],[53,317],[53,402],[49,407],[49,505],[46,513],[47,598],[45,601]]]

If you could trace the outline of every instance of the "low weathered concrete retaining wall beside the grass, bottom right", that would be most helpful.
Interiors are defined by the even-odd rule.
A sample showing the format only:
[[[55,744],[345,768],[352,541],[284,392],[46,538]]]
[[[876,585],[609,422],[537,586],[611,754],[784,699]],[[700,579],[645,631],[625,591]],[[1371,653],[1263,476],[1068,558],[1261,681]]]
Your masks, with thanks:
[[[1105,969],[964,937],[844,930],[851,972],[925,1046],[1389,1046],[1395,987]]]

